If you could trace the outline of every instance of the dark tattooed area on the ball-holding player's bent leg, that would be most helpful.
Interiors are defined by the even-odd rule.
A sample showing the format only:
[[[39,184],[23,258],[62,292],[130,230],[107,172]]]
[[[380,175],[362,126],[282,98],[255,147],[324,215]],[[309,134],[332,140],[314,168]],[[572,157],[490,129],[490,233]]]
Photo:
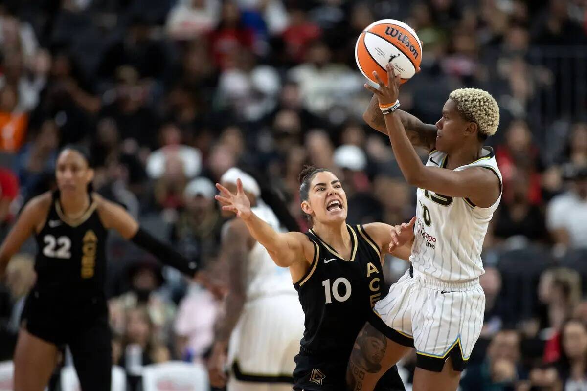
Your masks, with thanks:
[[[363,389],[367,373],[382,371],[381,362],[387,349],[387,338],[375,327],[367,323],[360,331],[350,353],[346,379],[349,391]],[[379,374],[379,377],[383,372]]]

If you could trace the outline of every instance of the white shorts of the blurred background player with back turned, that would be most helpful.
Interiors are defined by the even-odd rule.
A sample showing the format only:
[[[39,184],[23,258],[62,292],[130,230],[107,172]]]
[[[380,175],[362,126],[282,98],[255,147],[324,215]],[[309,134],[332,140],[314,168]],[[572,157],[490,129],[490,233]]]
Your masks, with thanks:
[[[303,331],[295,292],[247,302],[228,345],[231,376],[240,382],[286,383],[291,389]]]

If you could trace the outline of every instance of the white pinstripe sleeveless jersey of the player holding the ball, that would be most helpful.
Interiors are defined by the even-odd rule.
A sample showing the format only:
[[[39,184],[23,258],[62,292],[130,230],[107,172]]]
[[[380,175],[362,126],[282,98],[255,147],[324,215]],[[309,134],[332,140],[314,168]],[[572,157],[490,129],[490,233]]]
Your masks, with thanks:
[[[433,150],[427,166],[446,167],[447,155]],[[492,148],[483,157],[454,171],[471,167],[491,169],[500,179],[500,197],[489,208],[475,206],[467,198],[454,198],[425,189],[417,190],[416,236],[410,261],[414,269],[448,281],[465,281],[481,276],[481,247],[487,227],[501,200],[501,172]]]

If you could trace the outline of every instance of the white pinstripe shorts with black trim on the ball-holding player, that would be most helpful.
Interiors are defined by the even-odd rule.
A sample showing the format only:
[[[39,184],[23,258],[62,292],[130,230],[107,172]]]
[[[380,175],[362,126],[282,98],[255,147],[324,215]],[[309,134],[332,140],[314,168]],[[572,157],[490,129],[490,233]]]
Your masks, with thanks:
[[[419,368],[440,372],[451,357],[454,369],[463,370],[481,334],[485,293],[478,278],[443,281],[410,268],[373,311],[373,327],[416,348]]]

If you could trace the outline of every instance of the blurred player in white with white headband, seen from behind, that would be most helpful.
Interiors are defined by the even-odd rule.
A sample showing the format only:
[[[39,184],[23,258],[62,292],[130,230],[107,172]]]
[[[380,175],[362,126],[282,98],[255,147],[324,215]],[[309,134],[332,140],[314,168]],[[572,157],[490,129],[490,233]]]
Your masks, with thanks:
[[[282,221],[287,225],[282,227],[251,175],[231,168],[220,182],[236,192],[238,178],[255,215],[278,232],[299,230],[291,216],[284,216],[282,220],[289,221]],[[273,196],[269,203],[285,213],[285,205],[276,205],[279,202]],[[228,391],[291,391],[304,315],[288,268],[275,265],[241,219],[224,226],[221,246],[221,257],[228,262],[230,291],[224,316],[216,325],[211,383],[217,387],[226,383]],[[228,381],[225,368],[230,373]]]

